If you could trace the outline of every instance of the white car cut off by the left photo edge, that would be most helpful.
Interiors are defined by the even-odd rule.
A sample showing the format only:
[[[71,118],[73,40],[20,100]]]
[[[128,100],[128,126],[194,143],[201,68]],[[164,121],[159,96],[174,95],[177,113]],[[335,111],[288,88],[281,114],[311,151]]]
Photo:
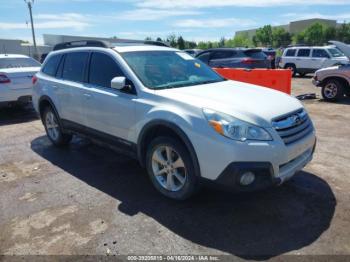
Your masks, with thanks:
[[[31,101],[32,77],[40,63],[25,55],[0,54],[0,106]]]

